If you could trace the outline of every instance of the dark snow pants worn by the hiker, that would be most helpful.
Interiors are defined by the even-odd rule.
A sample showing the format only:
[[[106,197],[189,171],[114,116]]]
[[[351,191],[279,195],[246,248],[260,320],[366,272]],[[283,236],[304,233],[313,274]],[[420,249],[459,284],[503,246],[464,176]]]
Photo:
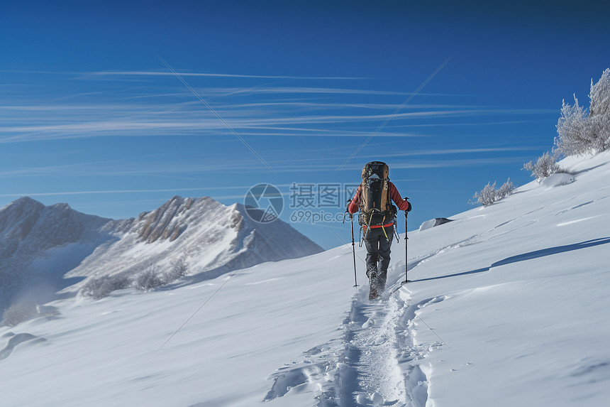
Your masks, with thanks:
[[[385,233],[383,229],[385,229]],[[389,266],[392,237],[394,237],[393,224],[385,228],[372,227],[365,237],[365,246],[367,247],[367,277],[371,278],[372,273],[376,274],[379,291],[384,290],[387,280],[387,267]]]

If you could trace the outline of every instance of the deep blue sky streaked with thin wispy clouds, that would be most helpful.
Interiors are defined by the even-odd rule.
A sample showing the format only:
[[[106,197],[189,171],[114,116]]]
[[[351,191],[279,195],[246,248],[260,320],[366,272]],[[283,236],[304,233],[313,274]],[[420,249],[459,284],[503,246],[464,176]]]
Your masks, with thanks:
[[[382,160],[415,229],[488,181],[528,182],[562,99],[588,105],[610,67],[594,2],[326,3],[3,3],[0,206],[29,195],[118,219],[271,183],[291,222],[343,212],[289,207],[291,185],[357,183]],[[293,224],[325,248],[350,239]]]

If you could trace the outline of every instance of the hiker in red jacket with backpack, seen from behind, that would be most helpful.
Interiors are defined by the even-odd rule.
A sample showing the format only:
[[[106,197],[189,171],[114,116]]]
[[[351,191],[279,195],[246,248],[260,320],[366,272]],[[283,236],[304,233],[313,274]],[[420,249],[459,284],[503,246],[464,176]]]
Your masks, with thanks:
[[[411,203],[407,201],[409,198],[401,198],[397,188],[389,181],[388,172],[387,164],[381,161],[372,161],[365,165],[362,169],[362,183],[348,205],[350,217],[360,210],[358,223],[362,226],[367,248],[370,299],[379,296],[387,280],[390,246],[397,214],[397,207],[392,205],[392,201],[399,210],[411,210]]]

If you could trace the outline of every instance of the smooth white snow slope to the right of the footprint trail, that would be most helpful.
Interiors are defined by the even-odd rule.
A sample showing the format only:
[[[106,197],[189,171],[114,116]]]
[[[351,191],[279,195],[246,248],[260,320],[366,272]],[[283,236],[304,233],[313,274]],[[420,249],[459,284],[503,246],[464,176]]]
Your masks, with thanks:
[[[561,165],[409,240],[401,298],[434,406],[607,403],[610,154]]]

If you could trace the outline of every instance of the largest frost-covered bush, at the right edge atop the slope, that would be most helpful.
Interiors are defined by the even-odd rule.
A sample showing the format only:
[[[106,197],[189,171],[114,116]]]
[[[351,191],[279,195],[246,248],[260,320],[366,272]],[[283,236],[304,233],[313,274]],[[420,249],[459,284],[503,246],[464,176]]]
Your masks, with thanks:
[[[610,148],[610,69],[604,71],[596,84],[591,81],[589,98],[588,115],[576,96],[574,106],[562,102],[555,144],[565,156],[599,153]]]

